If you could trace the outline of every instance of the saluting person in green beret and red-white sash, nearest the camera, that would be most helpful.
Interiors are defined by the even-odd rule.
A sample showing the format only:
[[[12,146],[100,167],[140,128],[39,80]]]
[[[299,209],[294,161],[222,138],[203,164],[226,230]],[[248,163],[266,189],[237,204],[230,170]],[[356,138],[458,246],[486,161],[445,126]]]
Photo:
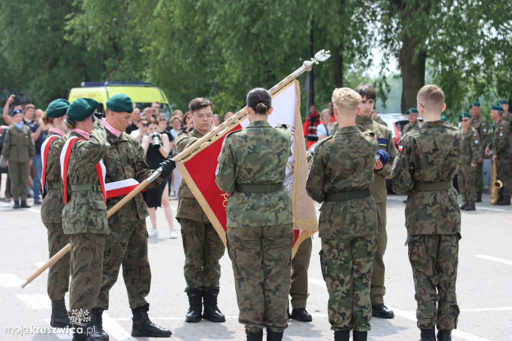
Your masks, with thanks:
[[[98,106],[92,98],[75,99],[66,118],[72,131],[62,137],[62,228],[71,240],[70,317],[73,340],[78,341],[92,340],[89,318],[101,287],[105,235],[110,233],[100,163],[110,144],[103,123],[93,115]]]

